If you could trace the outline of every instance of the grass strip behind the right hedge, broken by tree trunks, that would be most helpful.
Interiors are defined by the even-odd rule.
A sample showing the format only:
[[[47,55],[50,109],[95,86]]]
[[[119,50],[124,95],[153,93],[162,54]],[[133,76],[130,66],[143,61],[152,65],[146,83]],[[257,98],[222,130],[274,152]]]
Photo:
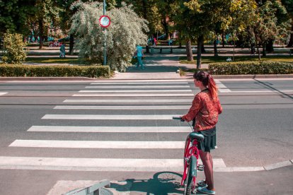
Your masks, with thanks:
[[[233,56],[231,56],[232,58]],[[225,62],[228,57],[202,57],[202,64],[209,64],[213,62]],[[187,61],[187,57],[180,57],[180,64],[196,64],[196,57],[193,57],[195,61]],[[293,61],[293,56],[267,56],[261,57],[262,61]],[[236,56],[234,61],[258,61],[258,56]]]

